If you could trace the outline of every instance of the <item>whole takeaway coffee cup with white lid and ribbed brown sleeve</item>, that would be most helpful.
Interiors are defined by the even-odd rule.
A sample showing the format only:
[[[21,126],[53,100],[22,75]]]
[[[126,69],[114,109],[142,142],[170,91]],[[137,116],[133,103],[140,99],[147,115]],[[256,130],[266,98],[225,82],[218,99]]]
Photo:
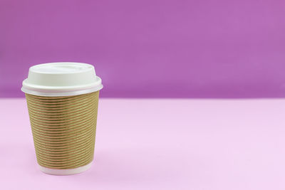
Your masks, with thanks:
[[[86,63],[45,63],[29,69],[21,90],[41,171],[68,175],[90,168],[102,88],[93,65]]]

